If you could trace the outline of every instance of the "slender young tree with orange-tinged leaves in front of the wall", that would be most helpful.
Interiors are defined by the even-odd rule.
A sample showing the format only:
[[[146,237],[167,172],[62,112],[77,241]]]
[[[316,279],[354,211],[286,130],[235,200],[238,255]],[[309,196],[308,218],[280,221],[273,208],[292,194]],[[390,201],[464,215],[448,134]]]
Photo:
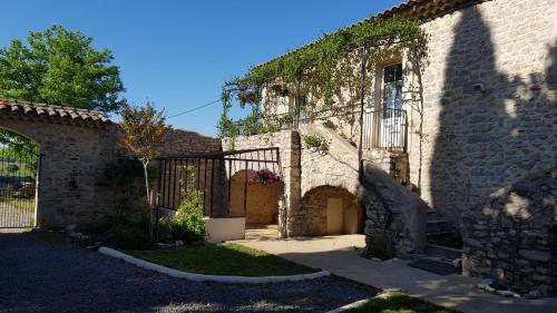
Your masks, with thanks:
[[[147,198],[150,196],[148,166],[158,155],[158,143],[167,133],[164,110],[156,110],[152,102],[143,107],[124,105],[120,111],[124,146],[141,162]]]

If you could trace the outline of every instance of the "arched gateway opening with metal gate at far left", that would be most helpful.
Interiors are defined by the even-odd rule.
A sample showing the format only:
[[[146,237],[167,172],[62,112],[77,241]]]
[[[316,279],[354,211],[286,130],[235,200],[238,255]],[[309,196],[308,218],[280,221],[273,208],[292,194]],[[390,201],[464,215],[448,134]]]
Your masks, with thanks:
[[[0,228],[27,228],[37,223],[39,145],[0,128]]]

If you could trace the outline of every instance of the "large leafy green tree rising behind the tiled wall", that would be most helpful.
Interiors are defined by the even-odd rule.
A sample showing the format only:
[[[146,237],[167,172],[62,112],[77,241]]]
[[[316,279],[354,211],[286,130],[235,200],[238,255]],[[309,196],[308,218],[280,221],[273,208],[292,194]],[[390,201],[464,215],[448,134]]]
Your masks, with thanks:
[[[0,49],[0,97],[118,111],[125,90],[119,69],[110,50],[96,50],[91,42],[61,26],[31,31],[28,45],[13,39]]]

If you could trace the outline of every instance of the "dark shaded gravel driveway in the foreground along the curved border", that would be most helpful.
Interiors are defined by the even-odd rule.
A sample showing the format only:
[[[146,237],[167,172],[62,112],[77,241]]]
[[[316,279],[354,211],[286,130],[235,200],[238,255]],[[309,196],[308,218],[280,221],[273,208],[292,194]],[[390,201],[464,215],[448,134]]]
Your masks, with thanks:
[[[325,312],[373,293],[334,276],[196,283],[109,258],[52,233],[0,234],[0,312]]]

